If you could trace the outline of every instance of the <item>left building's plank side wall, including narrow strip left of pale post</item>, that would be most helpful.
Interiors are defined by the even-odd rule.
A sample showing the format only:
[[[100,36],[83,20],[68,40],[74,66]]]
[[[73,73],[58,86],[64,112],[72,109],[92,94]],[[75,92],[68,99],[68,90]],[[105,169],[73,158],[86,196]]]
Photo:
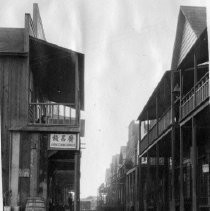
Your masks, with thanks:
[[[11,127],[27,124],[28,74],[25,57],[0,57],[0,78],[2,90],[2,168],[3,190],[8,191],[9,149]]]

